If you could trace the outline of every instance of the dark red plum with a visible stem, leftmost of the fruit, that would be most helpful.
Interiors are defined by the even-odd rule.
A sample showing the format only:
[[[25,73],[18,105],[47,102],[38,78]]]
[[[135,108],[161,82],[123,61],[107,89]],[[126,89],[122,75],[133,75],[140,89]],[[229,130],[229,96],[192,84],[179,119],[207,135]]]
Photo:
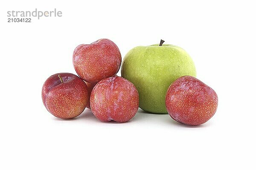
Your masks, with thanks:
[[[61,119],[79,116],[88,101],[85,82],[71,73],[58,73],[50,76],[43,85],[44,106],[52,115]]]

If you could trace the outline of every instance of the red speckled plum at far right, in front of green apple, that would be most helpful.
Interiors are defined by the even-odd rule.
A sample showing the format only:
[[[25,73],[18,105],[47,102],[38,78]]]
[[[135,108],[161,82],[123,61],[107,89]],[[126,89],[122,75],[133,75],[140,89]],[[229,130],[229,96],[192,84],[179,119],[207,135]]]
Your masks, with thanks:
[[[216,112],[218,96],[208,85],[192,76],[173,82],[166,93],[166,109],[172,119],[186,125],[201,125]]]

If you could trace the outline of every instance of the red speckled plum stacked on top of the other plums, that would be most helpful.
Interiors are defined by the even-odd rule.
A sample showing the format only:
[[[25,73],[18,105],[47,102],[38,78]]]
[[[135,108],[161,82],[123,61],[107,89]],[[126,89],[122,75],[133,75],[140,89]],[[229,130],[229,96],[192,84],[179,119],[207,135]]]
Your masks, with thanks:
[[[78,45],[73,53],[76,73],[86,82],[113,77],[119,71],[121,60],[119,48],[108,39]]]

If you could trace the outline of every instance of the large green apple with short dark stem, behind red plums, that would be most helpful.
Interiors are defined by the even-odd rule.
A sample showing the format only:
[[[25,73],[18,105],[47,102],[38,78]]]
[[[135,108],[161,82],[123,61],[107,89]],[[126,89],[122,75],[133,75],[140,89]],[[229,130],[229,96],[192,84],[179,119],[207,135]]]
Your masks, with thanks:
[[[138,46],[124,57],[121,74],[137,88],[140,108],[151,113],[167,113],[167,89],[181,76],[196,76],[195,65],[182,48],[163,44]]]

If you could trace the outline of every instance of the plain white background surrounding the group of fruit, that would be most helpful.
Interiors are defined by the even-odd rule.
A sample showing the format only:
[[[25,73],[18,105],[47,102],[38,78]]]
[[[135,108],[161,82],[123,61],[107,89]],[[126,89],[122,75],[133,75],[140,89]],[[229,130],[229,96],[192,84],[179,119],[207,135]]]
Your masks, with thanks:
[[[7,11],[35,8],[63,16],[7,23]],[[253,0],[1,1],[0,169],[255,169],[255,16]],[[215,116],[198,127],[141,110],[122,124],[88,109],[52,116],[44,81],[75,74],[73,50],[100,38],[122,57],[160,39],[184,48],[218,94]]]

